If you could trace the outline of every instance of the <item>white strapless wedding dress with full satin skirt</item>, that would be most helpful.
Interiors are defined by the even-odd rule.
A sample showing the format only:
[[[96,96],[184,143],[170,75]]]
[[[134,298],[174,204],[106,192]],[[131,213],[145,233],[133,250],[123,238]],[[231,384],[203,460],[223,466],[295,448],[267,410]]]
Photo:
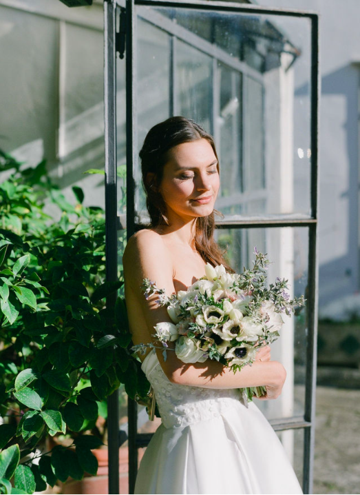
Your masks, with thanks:
[[[140,463],[136,494],[301,494],[284,448],[240,392],[171,383],[155,352],[142,363],[162,425]]]

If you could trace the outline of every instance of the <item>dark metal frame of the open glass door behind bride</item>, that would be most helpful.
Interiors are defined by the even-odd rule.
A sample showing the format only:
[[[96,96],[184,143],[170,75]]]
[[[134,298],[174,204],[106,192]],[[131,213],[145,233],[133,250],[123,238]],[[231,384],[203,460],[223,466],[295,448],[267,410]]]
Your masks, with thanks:
[[[126,1],[126,4],[125,4]],[[127,235],[131,236],[137,226],[134,223],[134,170],[138,160],[136,129],[136,6],[177,7],[182,9],[221,10],[242,14],[273,14],[286,17],[304,17],[311,22],[311,121],[310,146],[311,183],[310,216],[276,215],[263,216],[261,219],[251,217],[239,220],[220,221],[218,228],[275,228],[308,227],[308,343],[306,351],[306,401],[304,417],[282,418],[271,421],[274,429],[304,429],[304,493],[311,493],[313,487],[313,456],[315,437],[315,385],[316,385],[316,336],[317,336],[317,201],[318,201],[318,123],[319,123],[319,21],[312,12],[262,8],[259,6],[229,3],[223,1],[177,1],[177,0],[105,0],[105,194],[107,225],[107,279],[117,276],[116,252],[116,6],[126,8],[126,72],[127,72]],[[173,42],[176,39],[173,38]],[[173,60],[172,63],[175,63]],[[248,72],[248,68],[246,70]],[[252,76],[259,75],[254,71]],[[256,77],[256,79],[257,79]],[[174,112],[174,102],[170,110]],[[111,304],[112,301],[109,301]],[[129,401],[129,493],[134,492],[138,447],[149,443],[151,435],[137,433],[137,407]],[[118,396],[109,398],[109,493],[119,493],[118,489]]]

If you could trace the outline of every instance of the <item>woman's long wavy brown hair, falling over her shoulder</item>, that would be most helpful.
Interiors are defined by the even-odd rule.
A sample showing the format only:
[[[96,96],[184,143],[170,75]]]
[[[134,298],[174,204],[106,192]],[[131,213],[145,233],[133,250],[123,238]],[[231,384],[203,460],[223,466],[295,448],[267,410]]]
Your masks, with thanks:
[[[147,133],[139,156],[142,183],[144,184],[147,195],[146,204],[151,219],[151,228],[157,228],[160,225],[169,225],[167,206],[159,192],[162,174],[168,159],[167,152],[176,145],[197,141],[198,139],[207,139],[218,159],[213,137],[192,119],[170,117],[154,125]],[[149,179],[149,174],[151,174],[151,179]],[[209,216],[197,217],[194,221],[194,228],[195,248],[200,253],[202,259],[206,263],[211,263],[211,265],[222,264],[226,267],[226,270],[233,272],[224,260],[224,255],[220,247],[213,239],[215,229],[214,212]]]

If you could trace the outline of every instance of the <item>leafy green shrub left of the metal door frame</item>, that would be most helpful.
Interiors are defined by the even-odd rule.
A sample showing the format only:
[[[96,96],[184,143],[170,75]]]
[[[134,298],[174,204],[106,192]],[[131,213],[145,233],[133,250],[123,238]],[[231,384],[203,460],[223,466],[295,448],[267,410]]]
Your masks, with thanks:
[[[131,398],[145,396],[149,383],[128,350],[124,299],[105,303],[123,281],[121,273],[105,281],[103,210],[86,208],[76,186],[76,204],[69,203],[45,162],[23,169],[0,151],[0,172],[6,170],[12,173],[0,184],[0,493],[31,494],[58,479],[96,474],[91,451],[103,442],[89,432],[99,405],[120,383]],[[57,205],[59,219],[45,213],[47,201]],[[46,436],[56,434],[70,434],[71,445],[41,451]]]

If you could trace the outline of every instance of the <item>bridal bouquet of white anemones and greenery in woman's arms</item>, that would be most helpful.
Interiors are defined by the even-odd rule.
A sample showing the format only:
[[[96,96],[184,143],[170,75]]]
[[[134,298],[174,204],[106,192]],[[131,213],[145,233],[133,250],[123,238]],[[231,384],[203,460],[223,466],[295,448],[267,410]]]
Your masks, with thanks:
[[[206,276],[177,294],[167,296],[156,284],[145,279],[142,290],[148,299],[158,295],[158,304],[167,307],[173,323],[162,322],[155,327],[154,337],[167,357],[169,342],[175,342],[176,356],[184,363],[204,363],[215,359],[233,372],[251,365],[257,350],[279,337],[284,320],[282,315],[304,305],[304,296],[290,299],[287,281],[277,278],[267,286],[266,255],[257,252],[251,270],[229,274],[223,265],[207,263]],[[153,344],[136,345],[145,352]],[[266,394],[265,387],[246,389],[249,400],[253,395]]]

